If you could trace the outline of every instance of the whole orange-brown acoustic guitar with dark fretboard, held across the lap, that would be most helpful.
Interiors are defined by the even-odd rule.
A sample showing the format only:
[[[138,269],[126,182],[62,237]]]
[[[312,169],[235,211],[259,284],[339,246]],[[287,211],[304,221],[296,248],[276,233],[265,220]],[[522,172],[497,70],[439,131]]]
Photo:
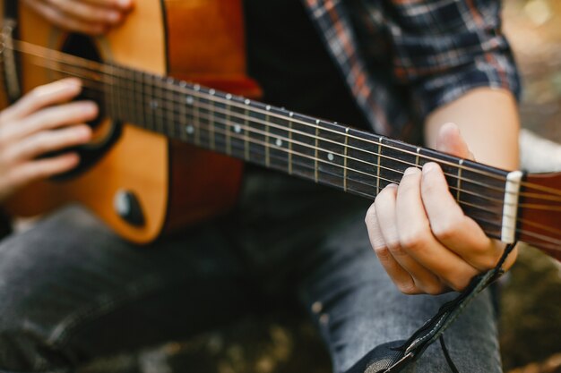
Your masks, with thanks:
[[[561,174],[505,171],[269,106],[245,75],[237,1],[140,0],[106,37],[56,29],[4,0],[0,67],[8,101],[78,77],[102,107],[80,165],[14,196],[33,216],[79,201],[134,242],[227,211],[243,162],[374,199],[410,166],[436,162],[488,236],[561,260]],[[108,119],[105,119],[108,118]]]

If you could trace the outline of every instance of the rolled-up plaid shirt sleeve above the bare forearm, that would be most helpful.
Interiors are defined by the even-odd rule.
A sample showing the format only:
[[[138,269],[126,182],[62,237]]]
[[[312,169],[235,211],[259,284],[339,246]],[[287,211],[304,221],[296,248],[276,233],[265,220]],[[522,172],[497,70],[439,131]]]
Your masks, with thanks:
[[[474,88],[520,97],[500,1],[388,0],[385,13],[394,77],[410,90],[422,117]]]

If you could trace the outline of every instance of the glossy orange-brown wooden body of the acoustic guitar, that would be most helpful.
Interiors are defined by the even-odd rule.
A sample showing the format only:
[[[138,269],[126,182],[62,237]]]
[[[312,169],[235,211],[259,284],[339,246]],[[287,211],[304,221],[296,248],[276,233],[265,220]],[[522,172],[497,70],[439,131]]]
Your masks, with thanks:
[[[19,8],[22,40],[56,50],[65,46],[67,33],[27,7]],[[255,96],[256,85],[244,75],[242,26],[238,1],[139,0],[123,26],[92,44],[106,62]],[[22,63],[25,91],[56,79]],[[114,125],[104,120],[96,127],[98,137]],[[126,239],[142,243],[223,213],[236,201],[240,161],[126,123],[119,129],[115,143],[87,171],[64,181],[29,185],[8,201],[9,212],[36,216],[77,201]],[[117,213],[117,194],[122,191],[138,202],[140,224]]]

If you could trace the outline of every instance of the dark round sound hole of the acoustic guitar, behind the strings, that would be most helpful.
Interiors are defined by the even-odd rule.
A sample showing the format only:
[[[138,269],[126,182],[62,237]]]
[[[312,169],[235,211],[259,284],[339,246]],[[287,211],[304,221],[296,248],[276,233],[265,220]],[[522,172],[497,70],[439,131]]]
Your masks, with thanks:
[[[90,37],[82,35],[82,34],[69,34],[68,37],[65,39],[65,43],[62,47],[62,52],[75,55],[77,57],[82,57],[94,62],[101,62],[101,55],[99,55],[98,48],[95,46],[93,41]],[[75,76],[82,80],[82,93],[80,96],[76,97],[76,100],[91,100],[95,101],[99,106],[99,114],[98,116],[89,122],[88,124],[91,126],[92,129],[95,129],[99,126],[99,123],[102,122],[103,118],[105,118],[105,108],[103,106],[103,92],[101,82],[95,79],[94,75],[98,75],[98,72],[90,72],[86,69],[71,69],[70,72],[75,72],[75,74],[71,74],[71,76]]]

